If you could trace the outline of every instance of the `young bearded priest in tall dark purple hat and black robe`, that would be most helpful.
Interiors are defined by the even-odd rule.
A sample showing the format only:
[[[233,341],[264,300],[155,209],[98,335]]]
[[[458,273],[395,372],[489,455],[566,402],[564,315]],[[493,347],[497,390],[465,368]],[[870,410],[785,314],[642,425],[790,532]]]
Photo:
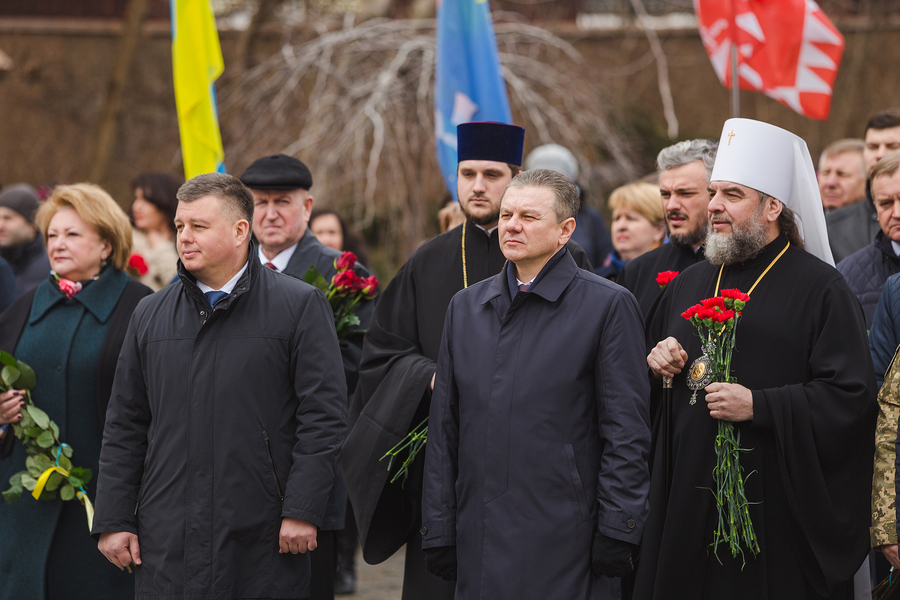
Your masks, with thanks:
[[[381,295],[363,345],[341,458],[366,562],[382,562],[407,544],[405,600],[451,599],[454,586],[428,572],[421,551],[423,457],[405,483],[389,482],[387,461],[379,458],[428,416],[450,299],[503,268],[500,197],[522,164],[525,130],[463,123],[458,137],[457,195],[466,221],[422,244]],[[570,251],[589,267],[583,250],[573,245]]]

